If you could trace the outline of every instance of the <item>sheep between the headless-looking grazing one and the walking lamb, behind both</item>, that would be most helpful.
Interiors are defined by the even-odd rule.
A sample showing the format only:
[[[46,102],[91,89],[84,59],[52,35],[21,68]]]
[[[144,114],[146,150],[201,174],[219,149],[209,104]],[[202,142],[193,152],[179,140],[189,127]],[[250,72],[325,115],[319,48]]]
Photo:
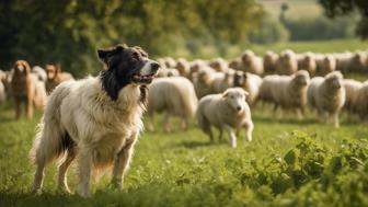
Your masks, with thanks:
[[[208,66],[203,66],[193,77],[193,83],[198,99],[210,94],[212,91],[212,82],[217,77],[222,76]]]

